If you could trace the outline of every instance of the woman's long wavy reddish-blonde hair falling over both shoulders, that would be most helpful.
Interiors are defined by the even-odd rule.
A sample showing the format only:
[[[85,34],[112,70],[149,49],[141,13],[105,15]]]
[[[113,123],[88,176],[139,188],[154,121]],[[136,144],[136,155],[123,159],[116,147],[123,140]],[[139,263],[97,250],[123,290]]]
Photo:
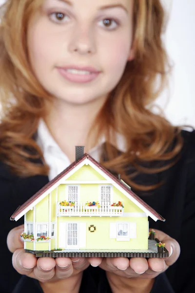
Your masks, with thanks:
[[[38,0],[6,0],[0,7],[0,156],[19,176],[46,175],[49,171],[33,136],[52,97],[35,78],[26,45],[28,21],[41,4]],[[107,159],[101,161],[102,165],[121,174],[123,180],[139,190],[156,186],[136,184],[137,172],[156,173],[171,167],[183,144],[180,128],[154,114],[150,107],[167,85],[171,72],[161,39],[165,16],[160,0],[134,2],[135,59],[127,63],[120,82],[109,93],[91,128],[96,126],[97,141],[99,135],[106,136]],[[116,139],[116,131],[126,139],[125,153],[118,153],[109,143]],[[91,131],[89,138],[90,134]],[[147,162],[163,164],[144,167]],[[130,165],[134,171],[127,175]]]

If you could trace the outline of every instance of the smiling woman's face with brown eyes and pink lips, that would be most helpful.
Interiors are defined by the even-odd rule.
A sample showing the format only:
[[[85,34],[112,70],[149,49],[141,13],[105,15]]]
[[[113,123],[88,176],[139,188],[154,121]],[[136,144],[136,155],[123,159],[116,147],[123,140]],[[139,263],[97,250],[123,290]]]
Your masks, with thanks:
[[[60,102],[106,99],[133,59],[132,14],[133,0],[44,0],[27,30],[39,83]]]

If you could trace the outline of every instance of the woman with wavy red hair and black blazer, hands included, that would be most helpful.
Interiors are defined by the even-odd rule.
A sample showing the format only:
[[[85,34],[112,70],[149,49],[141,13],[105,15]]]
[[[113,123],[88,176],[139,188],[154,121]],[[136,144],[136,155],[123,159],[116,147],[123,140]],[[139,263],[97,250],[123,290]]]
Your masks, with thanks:
[[[183,235],[195,224],[195,132],[149,108],[169,68],[160,1],[7,0],[1,11],[1,291],[190,292],[192,238]],[[74,161],[76,145],[166,218],[151,227],[169,258],[24,253],[16,227],[23,221],[10,223],[10,212]]]

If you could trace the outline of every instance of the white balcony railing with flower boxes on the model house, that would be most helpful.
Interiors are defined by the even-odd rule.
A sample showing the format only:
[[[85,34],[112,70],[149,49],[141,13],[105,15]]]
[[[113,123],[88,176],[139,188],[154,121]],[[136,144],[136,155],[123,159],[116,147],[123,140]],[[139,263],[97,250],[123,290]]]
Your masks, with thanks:
[[[111,207],[111,204],[101,202],[100,207],[97,206],[85,206],[85,203],[75,203],[74,207],[60,206],[58,203],[58,216],[122,216],[124,208]]]

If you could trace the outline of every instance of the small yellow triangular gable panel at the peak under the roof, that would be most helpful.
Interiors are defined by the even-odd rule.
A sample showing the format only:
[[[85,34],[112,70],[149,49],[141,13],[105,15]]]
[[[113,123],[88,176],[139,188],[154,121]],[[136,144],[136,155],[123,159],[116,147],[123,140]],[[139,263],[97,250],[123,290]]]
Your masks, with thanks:
[[[77,172],[66,180],[106,180],[89,165],[82,166]]]

